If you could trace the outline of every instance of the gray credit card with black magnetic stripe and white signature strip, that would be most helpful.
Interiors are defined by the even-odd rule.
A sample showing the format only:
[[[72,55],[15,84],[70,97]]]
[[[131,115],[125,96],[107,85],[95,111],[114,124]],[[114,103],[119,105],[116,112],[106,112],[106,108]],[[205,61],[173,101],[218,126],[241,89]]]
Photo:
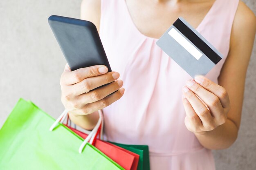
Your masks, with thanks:
[[[195,75],[206,75],[223,57],[182,17],[167,29],[156,44],[193,78]]]

